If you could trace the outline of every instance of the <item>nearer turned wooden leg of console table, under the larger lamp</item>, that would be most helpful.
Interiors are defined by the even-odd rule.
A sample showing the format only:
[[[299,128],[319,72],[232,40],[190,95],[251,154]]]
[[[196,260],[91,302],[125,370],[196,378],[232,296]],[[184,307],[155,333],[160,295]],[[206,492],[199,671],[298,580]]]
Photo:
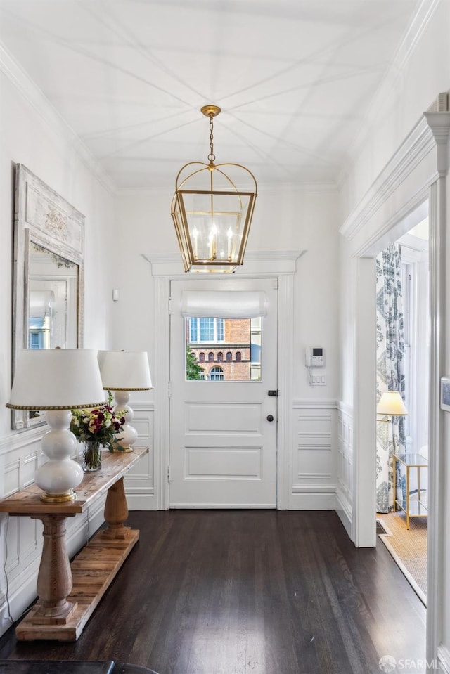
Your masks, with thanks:
[[[41,519],[44,524],[44,547],[37,576],[39,608],[34,622],[64,623],[77,606],[67,600],[72,590],[72,571],[65,542],[65,516],[39,514],[33,519]]]

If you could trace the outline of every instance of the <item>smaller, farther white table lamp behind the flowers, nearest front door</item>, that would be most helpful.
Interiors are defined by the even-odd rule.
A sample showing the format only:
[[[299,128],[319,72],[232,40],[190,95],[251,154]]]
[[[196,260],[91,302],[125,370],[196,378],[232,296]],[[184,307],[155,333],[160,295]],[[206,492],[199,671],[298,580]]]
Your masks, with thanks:
[[[98,351],[103,388],[114,391],[115,412],[125,412],[123,430],[117,436],[119,451],[131,452],[138,432],[131,425],[134,412],[129,406],[130,391],[153,389],[146,351]]]

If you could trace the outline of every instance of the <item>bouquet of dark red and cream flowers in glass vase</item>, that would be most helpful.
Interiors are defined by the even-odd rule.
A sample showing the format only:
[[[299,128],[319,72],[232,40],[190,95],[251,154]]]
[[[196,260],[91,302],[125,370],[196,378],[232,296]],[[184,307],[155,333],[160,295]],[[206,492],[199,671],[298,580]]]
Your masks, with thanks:
[[[89,410],[72,410],[70,430],[77,440],[84,443],[83,468],[86,471],[101,467],[101,447],[110,452],[120,448],[117,433],[123,430],[126,411],[117,413],[111,403],[113,394],[108,391],[108,404]]]

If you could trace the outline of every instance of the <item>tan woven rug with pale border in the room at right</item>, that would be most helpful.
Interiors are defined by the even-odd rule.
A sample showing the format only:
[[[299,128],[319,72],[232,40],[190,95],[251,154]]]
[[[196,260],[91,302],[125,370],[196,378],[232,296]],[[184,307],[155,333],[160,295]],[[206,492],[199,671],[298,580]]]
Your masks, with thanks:
[[[385,533],[379,533],[387,550],[394,557],[401,571],[427,605],[427,526],[426,517],[409,520],[406,529],[406,518],[403,512],[379,514],[377,518]],[[378,531],[380,527],[378,526]]]

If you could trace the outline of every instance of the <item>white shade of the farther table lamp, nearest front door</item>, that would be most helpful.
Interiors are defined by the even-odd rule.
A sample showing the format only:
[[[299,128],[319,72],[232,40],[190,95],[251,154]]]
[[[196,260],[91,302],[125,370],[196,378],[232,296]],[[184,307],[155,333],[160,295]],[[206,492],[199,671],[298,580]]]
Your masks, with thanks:
[[[146,351],[98,351],[103,388],[109,391],[153,389]]]

